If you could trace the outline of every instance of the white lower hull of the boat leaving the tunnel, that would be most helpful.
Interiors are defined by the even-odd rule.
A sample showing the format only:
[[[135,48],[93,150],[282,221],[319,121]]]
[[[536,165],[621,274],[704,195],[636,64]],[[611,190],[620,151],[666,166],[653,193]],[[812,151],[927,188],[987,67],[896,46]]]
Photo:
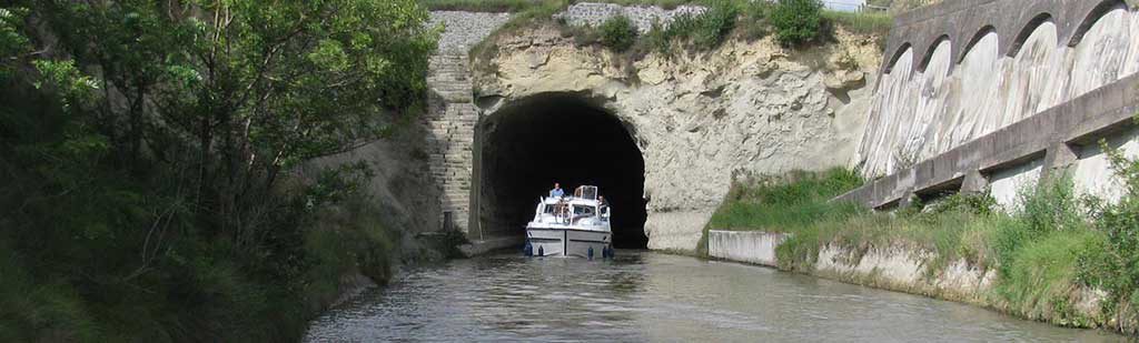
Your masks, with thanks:
[[[533,256],[601,258],[613,235],[605,231],[527,227],[526,244]],[[589,251],[592,248],[593,256]]]

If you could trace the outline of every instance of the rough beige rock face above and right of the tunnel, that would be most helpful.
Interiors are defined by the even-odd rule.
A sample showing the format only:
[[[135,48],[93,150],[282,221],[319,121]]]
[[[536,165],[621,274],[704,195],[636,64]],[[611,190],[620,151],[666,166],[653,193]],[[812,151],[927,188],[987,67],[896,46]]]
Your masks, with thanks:
[[[554,27],[500,36],[476,60],[474,87],[490,103],[547,93],[601,99],[645,159],[650,249],[693,250],[734,175],[847,166],[865,127],[872,37],[839,32],[804,51],[771,39],[730,40],[702,53],[652,53],[631,65],[600,47],[576,47]]]

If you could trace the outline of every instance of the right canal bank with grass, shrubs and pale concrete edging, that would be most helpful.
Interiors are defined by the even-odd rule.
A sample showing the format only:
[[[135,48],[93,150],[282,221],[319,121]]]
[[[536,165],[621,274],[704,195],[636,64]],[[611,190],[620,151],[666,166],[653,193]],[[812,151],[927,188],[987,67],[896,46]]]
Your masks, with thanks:
[[[1016,208],[948,194],[891,211],[830,201],[852,172],[737,182],[698,252],[970,303],[1066,327],[1134,334],[1133,195],[1095,201],[1057,178]],[[923,204],[924,202],[924,204]]]

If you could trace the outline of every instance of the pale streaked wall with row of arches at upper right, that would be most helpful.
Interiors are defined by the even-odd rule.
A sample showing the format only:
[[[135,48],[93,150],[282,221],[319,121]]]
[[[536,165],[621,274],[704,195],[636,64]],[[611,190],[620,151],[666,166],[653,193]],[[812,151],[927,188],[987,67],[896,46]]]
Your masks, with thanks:
[[[931,68],[945,42],[948,70]],[[1128,61],[1139,60],[1139,14],[1123,0],[948,1],[899,17],[886,49],[894,58],[882,67],[859,148],[866,176],[1136,73]]]

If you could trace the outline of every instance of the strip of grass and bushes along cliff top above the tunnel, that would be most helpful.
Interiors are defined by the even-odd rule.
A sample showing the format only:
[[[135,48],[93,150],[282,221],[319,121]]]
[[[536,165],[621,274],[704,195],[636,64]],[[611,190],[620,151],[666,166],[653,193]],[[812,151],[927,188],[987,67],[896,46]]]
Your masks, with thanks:
[[[424,0],[432,9],[489,10],[502,9],[513,11],[514,16],[490,37],[472,47],[472,60],[480,69],[492,68],[491,61],[497,53],[495,40],[500,35],[513,34],[524,27],[552,25],[565,36],[574,36],[579,45],[598,44],[606,47],[625,60],[638,60],[647,53],[658,52],[672,55],[678,51],[707,51],[715,49],[729,37],[757,40],[775,34],[777,41],[786,47],[803,48],[826,43],[831,40],[835,27],[868,35],[885,37],[893,19],[887,14],[838,12],[823,9],[818,0],[780,0],[744,1],[744,0],[693,0],[693,1],[655,1],[655,0],[607,0],[621,5],[656,5],[675,6],[682,3],[699,5],[707,8],[699,15],[679,15],[670,25],[654,25],[648,33],[636,31],[612,31],[605,25],[599,27],[570,27],[566,23],[552,18],[575,1],[541,0],[514,1],[492,0],[468,3],[464,0]],[[466,5],[465,5],[466,3]],[[607,22],[628,20],[613,18]],[[609,27],[612,28],[612,26]],[[603,39],[605,37],[605,39]],[[634,41],[628,44],[625,42]],[[882,40],[879,40],[882,41]],[[620,42],[617,44],[616,42]]]

